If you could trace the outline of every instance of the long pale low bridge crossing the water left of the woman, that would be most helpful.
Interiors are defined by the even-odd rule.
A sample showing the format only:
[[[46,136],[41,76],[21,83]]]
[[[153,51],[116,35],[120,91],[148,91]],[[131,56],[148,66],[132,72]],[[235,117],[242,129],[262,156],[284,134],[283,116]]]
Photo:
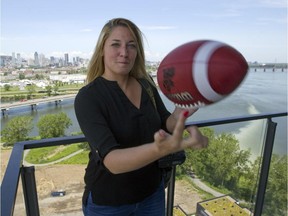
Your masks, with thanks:
[[[37,108],[37,105],[39,105],[40,103],[55,102],[55,105],[58,105],[64,99],[75,98],[75,96],[76,94],[57,95],[57,96],[46,97],[46,98],[32,99],[32,100],[26,100],[26,101],[16,101],[13,103],[5,103],[5,104],[1,104],[1,111],[2,111],[2,115],[4,116],[6,111],[12,108],[16,108],[16,107],[30,106],[31,109],[34,110]]]

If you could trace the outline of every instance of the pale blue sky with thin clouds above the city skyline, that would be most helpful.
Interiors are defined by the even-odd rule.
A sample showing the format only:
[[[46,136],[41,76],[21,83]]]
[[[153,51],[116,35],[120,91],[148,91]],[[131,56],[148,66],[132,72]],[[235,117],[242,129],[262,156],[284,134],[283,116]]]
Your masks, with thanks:
[[[146,60],[183,43],[216,40],[248,62],[287,62],[287,0],[1,0],[1,55],[90,58],[115,17],[144,34]]]

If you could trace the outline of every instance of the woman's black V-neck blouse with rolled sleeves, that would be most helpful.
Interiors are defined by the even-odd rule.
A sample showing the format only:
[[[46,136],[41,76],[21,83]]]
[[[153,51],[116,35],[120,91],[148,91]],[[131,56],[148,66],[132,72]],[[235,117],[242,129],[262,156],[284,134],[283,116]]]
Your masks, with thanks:
[[[157,162],[141,169],[113,174],[102,163],[115,148],[129,148],[153,142],[154,133],[166,130],[170,113],[157,89],[151,85],[157,111],[142,87],[140,109],[127,98],[116,81],[96,78],[80,89],[75,98],[75,112],[91,151],[84,181],[98,205],[123,205],[140,202],[160,184],[161,171]],[[98,152],[100,161],[97,161]]]

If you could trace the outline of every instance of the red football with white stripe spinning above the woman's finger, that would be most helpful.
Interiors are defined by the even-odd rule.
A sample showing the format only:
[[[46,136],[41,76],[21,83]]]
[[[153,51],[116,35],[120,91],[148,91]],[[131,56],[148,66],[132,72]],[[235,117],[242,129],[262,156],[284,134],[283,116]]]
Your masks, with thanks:
[[[247,61],[233,47],[219,41],[199,40],[168,53],[158,67],[157,82],[176,106],[196,108],[230,95],[247,71]]]

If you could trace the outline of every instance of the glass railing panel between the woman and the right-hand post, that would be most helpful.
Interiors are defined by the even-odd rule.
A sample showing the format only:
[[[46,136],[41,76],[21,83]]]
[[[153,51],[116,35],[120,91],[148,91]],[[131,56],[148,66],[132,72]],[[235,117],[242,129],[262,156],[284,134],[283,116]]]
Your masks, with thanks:
[[[201,128],[209,137],[209,147],[186,151],[185,163],[177,168],[182,179],[175,183],[174,205],[186,214],[209,211],[218,215],[251,215],[261,167],[257,158],[262,155],[266,122],[253,120]]]

